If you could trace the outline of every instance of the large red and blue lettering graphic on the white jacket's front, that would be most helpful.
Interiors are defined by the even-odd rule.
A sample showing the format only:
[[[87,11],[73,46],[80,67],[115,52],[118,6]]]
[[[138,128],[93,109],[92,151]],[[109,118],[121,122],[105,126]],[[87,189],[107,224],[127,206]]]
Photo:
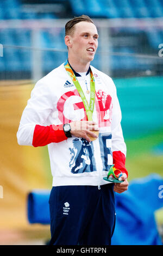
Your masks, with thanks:
[[[71,100],[70,100],[71,97]],[[96,110],[98,117],[98,126],[110,126],[111,123],[111,96],[102,90],[96,92]],[[66,92],[62,95],[57,104],[58,117],[62,123],[71,123],[73,118],[78,120],[87,120],[84,104],[79,96],[77,89]],[[67,108],[67,112],[66,112]],[[77,115],[74,115],[74,112]],[[79,118],[80,117],[80,118]],[[101,158],[103,161],[103,170],[108,170],[108,155],[111,155],[111,148],[106,148],[106,140],[111,139],[111,134],[99,133],[99,144],[101,148]],[[71,159],[70,168],[72,173],[95,172],[96,162],[94,157],[93,143],[89,143],[84,138],[73,139],[73,147],[69,148]]]

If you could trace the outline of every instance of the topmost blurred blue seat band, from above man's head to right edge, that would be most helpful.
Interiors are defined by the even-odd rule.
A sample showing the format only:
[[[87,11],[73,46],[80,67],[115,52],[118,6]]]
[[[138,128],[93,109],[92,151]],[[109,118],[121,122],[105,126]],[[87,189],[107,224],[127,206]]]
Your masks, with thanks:
[[[105,18],[143,18],[162,17],[162,1],[154,0],[70,0],[72,10],[76,15],[87,13],[92,17]]]

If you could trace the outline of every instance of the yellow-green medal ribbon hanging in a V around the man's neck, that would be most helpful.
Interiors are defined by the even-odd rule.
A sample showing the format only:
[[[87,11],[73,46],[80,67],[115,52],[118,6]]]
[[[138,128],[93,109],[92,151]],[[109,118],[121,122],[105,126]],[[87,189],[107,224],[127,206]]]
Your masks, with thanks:
[[[71,66],[68,64],[68,61],[65,62],[64,64],[65,69],[68,73],[68,75],[71,77],[71,80],[74,84],[74,86],[77,88],[78,93],[83,101],[84,107],[85,107],[85,111],[86,111],[86,115],[87,115],[87,119],[89,121],[92,121],[92,115],[93,115],[93,109],[95,106],[95,78],[93,77],[93,73],[92,70],[90,69],[90,105],[88,104],[86,97],[83,93],[82,87],[80,86],[76,76],[74,75],[73,70],[71,69]]]

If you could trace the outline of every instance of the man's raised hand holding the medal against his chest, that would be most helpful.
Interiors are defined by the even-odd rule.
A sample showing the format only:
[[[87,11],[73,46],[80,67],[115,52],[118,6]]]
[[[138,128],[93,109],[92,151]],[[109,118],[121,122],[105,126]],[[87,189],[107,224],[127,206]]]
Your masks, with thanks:
[[[91,142],[91,139],[88,135],[98,138],[98,136],[91,131],[99,131],[97,123],[94,121],[74,121],[70,123],[71,134],[78,138],[85,138],[88,142]]]

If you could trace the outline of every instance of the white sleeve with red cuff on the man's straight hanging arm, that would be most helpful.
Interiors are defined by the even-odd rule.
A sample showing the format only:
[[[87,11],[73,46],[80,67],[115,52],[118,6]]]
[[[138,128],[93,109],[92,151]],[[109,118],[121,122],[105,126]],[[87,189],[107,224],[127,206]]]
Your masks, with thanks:
[[[125,167],[126,162],[126,143],[124,142],[123,132],[121,127],[121,108],[117,98],[116,87],[113,96],[113,107],[112,107],[112,121],[111,121],[111,132],[112,132],[112,158],[115,168],[120,169],[121,172],[126,173],[128,177],[128,172]]]

